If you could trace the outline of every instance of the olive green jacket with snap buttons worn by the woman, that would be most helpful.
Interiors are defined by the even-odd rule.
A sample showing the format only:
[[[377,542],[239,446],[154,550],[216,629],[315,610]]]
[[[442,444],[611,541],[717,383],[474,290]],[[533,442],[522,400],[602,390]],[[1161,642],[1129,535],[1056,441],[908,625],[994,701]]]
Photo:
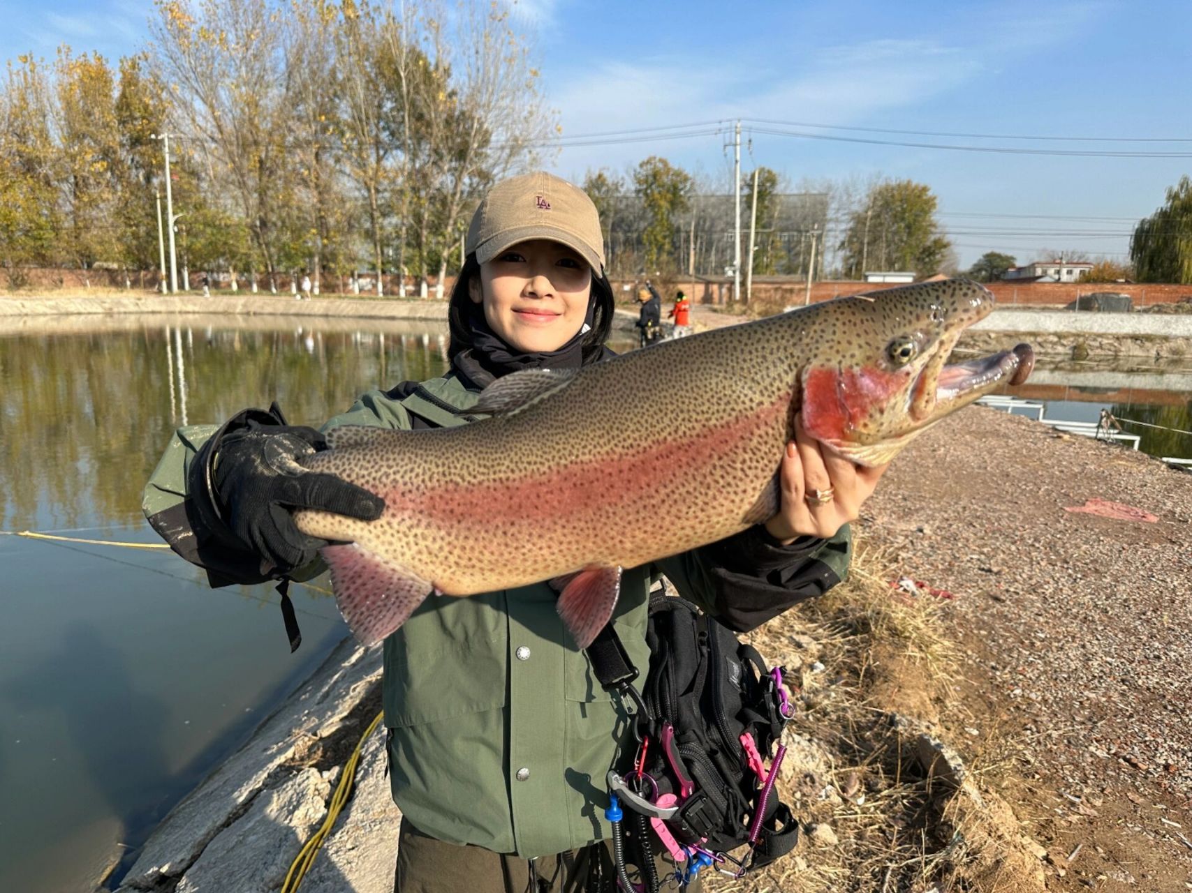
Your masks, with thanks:
[[[324,430],[466,424],[477,418],[467,410],[478,395],[448,373],[402,393],[371,391]],[[203,536],[193,530],[181,538],[176,535],[186,527],[179,520],[187,499],[186,469],[213,431],[213,426],[179,431],[145,488],[145,514],[172,544],[197,532]],[[783,552],[772,561],[776,567],[766,572],[769,582],[762,581],[760,595],[749,597],[771,605],[784,599],[777,608],[762,606],[769,607],[763,617],[845,576],[848,527],[831,541],[809,541],[807,547],[795,550],[794,558]],[[197,561],[185,545],[175,549]],[[802,574],[802,588],[795,587],[794,594],[788,573],[793,564]],[[302,576],[315,570],[308,568]],[[660,574],[684,597],[724,614],[743,569],[708,547],[626,569],[613,623],[642,669],[648,666],[648,592]],[[752,575],[752,568],[744,574]],[[428,598],[385,639],[392,794],[421,831],[523,858],[608,836],[604,776],[631,743],[631,732],[621,705],[601,688],[586,655],[565,632],[557,598],[546,583],[464,599]]]

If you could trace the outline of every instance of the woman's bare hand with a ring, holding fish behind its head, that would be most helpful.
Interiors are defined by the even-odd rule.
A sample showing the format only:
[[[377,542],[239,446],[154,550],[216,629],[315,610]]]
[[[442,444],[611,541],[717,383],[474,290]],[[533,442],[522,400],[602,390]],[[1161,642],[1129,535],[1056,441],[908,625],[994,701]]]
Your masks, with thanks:
[[[827,539],[856,520],[861,505],[869,499],[889,463],[876,468],[855,466],[828,449],[803,430],[803,420],[795,416],[795,439],[787,444],[778,469],[778,513],[765,523],[765,529],[783,545],[795,537],[813,536]],[[817,491],[820,499],[817,499]],[[831,491],[831,498],[825,498]]]

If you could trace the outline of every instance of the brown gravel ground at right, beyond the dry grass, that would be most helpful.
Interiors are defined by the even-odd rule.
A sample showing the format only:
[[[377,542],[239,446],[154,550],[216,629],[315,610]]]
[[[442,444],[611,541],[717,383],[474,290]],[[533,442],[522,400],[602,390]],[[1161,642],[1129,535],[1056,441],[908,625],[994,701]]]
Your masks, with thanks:
[[[1157,520],[1066,511],[1097,498]],[[865,516],[902,573],[954,593],[998,732],[1029,742],[1014,762],[1051,794],[1039,820],[1141,835],[1175,872],[1143,887],[1192,889],[1192,475],[974,406],[894,462]]]

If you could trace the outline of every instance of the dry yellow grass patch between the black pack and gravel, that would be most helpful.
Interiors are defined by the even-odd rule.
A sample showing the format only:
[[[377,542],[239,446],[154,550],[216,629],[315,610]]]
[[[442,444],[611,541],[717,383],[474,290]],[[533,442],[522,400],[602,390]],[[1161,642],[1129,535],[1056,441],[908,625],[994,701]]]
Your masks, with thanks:
[[[960,652],[949,602],[892,588],[895,567],[892,552],[861,547],[849,581],[752,635],[799,685],[778,791],[808,835],[772,867],[714,876],[708,889],[1041,889],[1031,860],[1019,858],[1013,814],[983,793],[980,774],[954,793],[917,758],[954,695]]]

